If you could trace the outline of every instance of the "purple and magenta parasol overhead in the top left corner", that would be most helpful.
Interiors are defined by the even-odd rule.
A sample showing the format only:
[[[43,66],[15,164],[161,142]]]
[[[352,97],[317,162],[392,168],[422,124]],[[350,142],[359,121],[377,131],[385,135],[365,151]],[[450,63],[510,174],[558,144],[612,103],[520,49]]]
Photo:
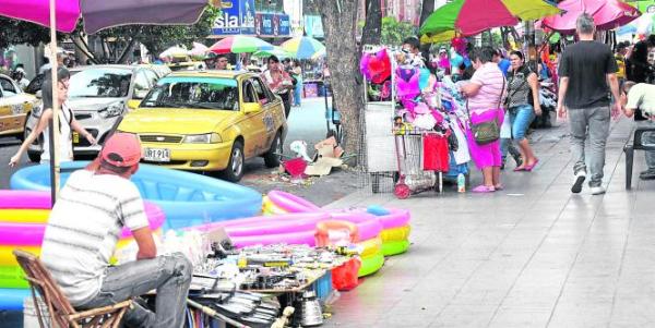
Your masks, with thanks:
[[[0,0],[0,15],[50,26],[49,0]],[[80,17],[88,34],[130,24],[193,24],[207,0],[57,0],[57,31],[71,33]]]

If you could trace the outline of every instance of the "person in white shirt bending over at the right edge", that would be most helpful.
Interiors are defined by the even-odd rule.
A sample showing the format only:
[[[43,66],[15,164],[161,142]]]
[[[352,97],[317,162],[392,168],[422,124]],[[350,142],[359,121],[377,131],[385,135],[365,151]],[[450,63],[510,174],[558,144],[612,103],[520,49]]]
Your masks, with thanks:
[[[627,117],[632,117],[641,112],[646,120],[636,120],[636,126],[655,127],[655,85],[646,83],[626,82],[621,93],[621,105]],[[655,133],[644,132],[642,142],[646,145],[655,144]],[[655,180],[655,151],[646,151],[647,170],[641,172],[639,178],[642,180]]]

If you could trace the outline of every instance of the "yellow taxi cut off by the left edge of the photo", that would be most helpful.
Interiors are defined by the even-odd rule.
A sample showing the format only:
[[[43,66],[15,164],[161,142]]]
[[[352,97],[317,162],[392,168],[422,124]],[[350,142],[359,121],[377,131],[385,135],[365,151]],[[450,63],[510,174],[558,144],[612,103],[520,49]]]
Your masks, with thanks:
[[[0,136],[23,137],[26,118],[39,100],[24,93],[11,77],[0,74]]]

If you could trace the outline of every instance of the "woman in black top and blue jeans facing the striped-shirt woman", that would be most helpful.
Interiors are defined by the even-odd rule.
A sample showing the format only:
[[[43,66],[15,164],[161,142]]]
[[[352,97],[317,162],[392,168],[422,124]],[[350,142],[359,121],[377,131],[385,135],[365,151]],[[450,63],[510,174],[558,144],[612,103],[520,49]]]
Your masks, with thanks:
[[[525,65],[521,51],[512,51],[510,62],[512,65],[508,73],[505,105],[510,112],[512,138],[519,144],[523,157],[523,163],[514,171],[532,171],[539,160],[535,157],[525,135],[535,116],[541,114],[539,82],[537,74]]]

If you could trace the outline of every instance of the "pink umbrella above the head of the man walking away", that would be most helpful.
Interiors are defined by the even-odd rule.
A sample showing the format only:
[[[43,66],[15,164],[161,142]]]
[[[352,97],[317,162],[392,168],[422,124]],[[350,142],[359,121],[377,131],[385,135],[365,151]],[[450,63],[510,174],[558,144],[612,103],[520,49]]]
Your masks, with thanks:
[[[636,8],[619,0],[565,0],[557,7],[563,13],[545,17],[541,25],[562,34],[575,33],[575,21],[585,12],[603,31],[626,25],[641,15]]]

